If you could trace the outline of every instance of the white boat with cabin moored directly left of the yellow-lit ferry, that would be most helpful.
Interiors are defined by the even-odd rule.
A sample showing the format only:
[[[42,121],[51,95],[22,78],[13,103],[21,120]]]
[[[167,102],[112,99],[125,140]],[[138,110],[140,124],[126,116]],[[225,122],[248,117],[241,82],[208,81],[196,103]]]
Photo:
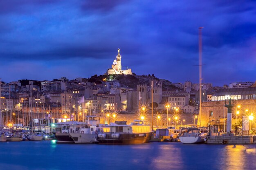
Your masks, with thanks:
[[[82,125],[76,127],[75,132],[69,133],[76,144],[97,143],[98,132],[109,132],[110,128],[106,126]]]

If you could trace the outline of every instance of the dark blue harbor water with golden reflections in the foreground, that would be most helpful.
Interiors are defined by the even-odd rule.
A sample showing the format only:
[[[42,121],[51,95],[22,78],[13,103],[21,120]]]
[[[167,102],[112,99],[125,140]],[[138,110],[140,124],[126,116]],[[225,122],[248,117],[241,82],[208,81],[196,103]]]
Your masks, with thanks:
[[[0,170],[251,170],[256,145],[0,143]]]

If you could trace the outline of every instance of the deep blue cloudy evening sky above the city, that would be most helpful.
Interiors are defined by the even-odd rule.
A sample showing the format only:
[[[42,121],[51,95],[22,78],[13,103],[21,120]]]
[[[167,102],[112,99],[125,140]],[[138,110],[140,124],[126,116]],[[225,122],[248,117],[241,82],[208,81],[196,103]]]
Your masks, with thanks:
[[[256,1],[0,0],[0,78],[102,75],[122,68],[177,83],[256,81]]]

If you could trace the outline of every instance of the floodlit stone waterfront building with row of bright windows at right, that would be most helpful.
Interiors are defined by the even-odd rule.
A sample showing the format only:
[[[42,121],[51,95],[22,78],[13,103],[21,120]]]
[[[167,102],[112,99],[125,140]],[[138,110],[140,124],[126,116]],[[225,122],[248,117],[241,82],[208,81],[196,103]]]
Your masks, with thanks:
[[[224,124],[224,117],[227,118],[227,108],[224,106],[228,100],[232,100],[234,108],[232,110],[233,117],[238,111],[238,119],[244,115],[255,114],[256,105],[256,87],[248,88],[227,88],[220,89],[213,93],[211,101],[202,102],[202,126],[209,124]],[[237,106],[240,106],[239,108]],[[234,124],[233,119],[232,124]]]

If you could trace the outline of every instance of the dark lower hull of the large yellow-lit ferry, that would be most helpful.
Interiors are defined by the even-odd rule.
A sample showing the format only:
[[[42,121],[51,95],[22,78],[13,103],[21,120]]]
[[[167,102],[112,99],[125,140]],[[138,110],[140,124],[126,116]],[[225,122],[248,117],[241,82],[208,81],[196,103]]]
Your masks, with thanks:
[[[106,138],[97,138],[99,144],[143,144],[147,143],[152,132],[139,134],[120,134],[118,138],[112,138],[111,133],[106,134]]]

